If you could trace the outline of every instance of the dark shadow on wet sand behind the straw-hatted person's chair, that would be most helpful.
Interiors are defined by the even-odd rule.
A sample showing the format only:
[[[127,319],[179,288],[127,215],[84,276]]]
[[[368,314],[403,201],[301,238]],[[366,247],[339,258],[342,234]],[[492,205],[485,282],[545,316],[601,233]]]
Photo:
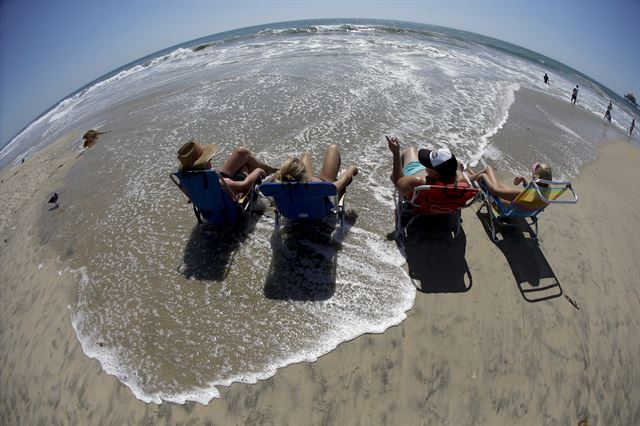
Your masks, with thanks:
[[[255,208],[231,226],[196,224],[184,248],[184,267],[187,278],[223,281],[238,247],[253,232],[264,209]]]

